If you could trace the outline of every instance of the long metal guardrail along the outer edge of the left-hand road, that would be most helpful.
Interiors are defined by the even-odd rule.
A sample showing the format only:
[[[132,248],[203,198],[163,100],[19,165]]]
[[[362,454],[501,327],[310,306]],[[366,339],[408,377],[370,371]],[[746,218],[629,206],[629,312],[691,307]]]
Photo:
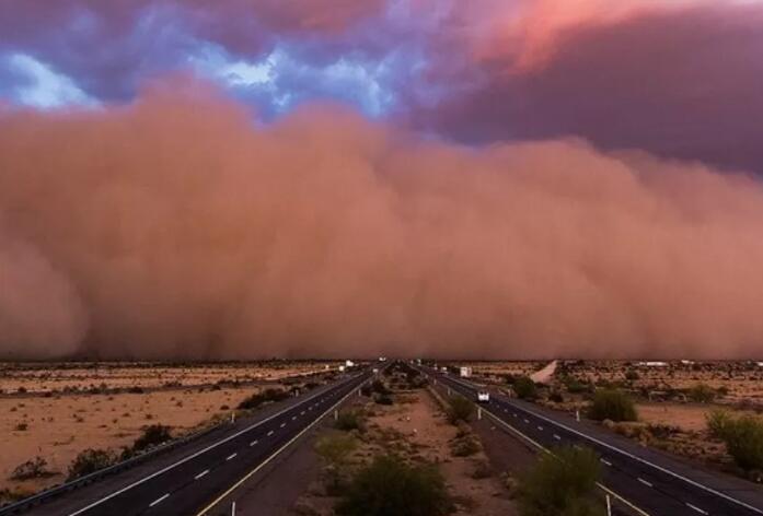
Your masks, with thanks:
[[[151,448],[146,453],[136,455],[134,457],[130,457],[129,459],[123,460],[107,468],[93,471],[92,473],[85,474],[84,477],[80,477],[79,479],[72,480],[70,482],[65,482],[59,485],[55,485],[53,488],[46,489],[45,491],[41,491],[37,494],[33,494],[32,496],[28,496],[26,499],[19,500],[18,502],[13,502],[8,505],[3,505],[2,507],[0,507],[0,516],[21,514],[26,511],[30,511],[31,508],[42,503],[45,503],[50,499],[89,485],[97,480],[103,479],[104,477],[108,477],[109,474],[114,474],[134,468],[135,466],[138,466],[139,464],[143,462],[149,458],[157,457],[161,454],[175,449],[178,446],[190,443],[192,441],[195,441],[199,437],[211,434],[212,432],[222,429],[227,424],[229,424],[227,421],[221,421],[216,425],[209,426],[198,432],[194,432],[193,434],[185,435],[177,439],[170,441],[163,445]]]

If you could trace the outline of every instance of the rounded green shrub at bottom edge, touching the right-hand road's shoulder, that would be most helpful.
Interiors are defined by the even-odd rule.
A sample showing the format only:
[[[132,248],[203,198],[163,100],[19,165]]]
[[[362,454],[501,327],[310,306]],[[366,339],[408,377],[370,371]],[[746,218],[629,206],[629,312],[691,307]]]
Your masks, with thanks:
[[[521,516],[603,516],[594,499],[601,478],[599,457],[590,448],[556,448],[519,479]]]

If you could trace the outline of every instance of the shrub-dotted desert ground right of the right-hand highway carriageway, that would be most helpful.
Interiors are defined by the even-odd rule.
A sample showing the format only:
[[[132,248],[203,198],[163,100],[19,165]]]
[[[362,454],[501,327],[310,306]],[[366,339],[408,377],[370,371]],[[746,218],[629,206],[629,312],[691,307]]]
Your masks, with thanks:
[[[474,378],[506,388],[547,362],[463,362]],[[722,410],[732,417],[763,413],[763,367],[753,361],[559,361],[535,402],[586,414],[592,392],[620,389],[634,400],[638,421],[602,424],[613,432],[672,453],[685,460],[750,478],[735,468],[707,418]],[[752,480],[758,481],[758,477]]]

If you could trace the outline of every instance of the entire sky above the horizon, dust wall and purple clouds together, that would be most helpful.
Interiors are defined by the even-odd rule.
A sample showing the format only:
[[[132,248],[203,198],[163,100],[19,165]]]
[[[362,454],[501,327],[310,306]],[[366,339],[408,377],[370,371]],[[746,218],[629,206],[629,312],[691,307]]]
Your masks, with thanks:
[[[0,355],[759,355],[762,55],[761,0],[0,0]]]

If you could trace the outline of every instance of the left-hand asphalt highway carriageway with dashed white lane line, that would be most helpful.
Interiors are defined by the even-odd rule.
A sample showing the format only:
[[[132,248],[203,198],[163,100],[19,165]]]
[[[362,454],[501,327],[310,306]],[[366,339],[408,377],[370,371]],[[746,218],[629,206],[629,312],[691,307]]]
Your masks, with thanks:
[[[243,483],[371,377],[369,371],[286,402],[278,411],[213,439],[190,443],[172,461],[157,458],[139,478],[104,481],[108,488],[71,491],[25,514],[66,516],[217,515],[232,488]],[[242,422],[243,423],[243,422]],[[152,462],[154,460],[152,459]],[[122,473],[118,473],[120,476]],[[95,484],[94,484],[95,486]],[[92,492],[91,492],[92,491]]]

